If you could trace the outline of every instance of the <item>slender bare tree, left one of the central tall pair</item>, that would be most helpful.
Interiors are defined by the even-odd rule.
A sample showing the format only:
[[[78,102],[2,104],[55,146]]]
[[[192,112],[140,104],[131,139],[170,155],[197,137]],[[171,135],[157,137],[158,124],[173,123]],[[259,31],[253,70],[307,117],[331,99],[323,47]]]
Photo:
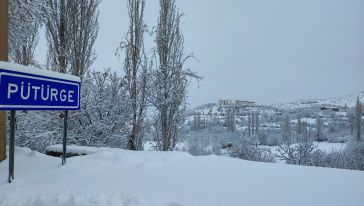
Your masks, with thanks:
[[[147,31],[143,21],[144,8],[145,0],[128,0],[129,30],[120,45],[121,49],[125,49],[124,72],[132,114],[128,139],[130,150],[140,150],[142,147],[141,134],[149,96],[150,65],[144,52],[144,33]]]

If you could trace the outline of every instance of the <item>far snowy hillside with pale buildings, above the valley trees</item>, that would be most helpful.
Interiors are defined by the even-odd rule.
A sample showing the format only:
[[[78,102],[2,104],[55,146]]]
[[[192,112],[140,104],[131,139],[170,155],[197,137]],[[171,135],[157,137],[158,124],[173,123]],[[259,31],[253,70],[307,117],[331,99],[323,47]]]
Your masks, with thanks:
[[[285,118],[290,118],[291,125],[294,126],[300,119],[302,122],[307,122],[308,127],[315,130],[317,120],[320,119],[324,128],[334,132],[334,129],[350,128],[350,115],[355,105],[353,99],[355,96],[346,97],[346,101],[333,103],[335,100],[319,100],[319,101],[298,101],[294,103],[276,104],[276,105],[256,105],[253,101],[247,100],[219,100],[218,103],[211,103],[197,107],[189,113],[186,124],[192,127],[194,120],[200,119],[198,127],[200,129],[208,127],[208,125],[223,123],[225,125],[226,118],[229,114],[233,114],[236,130],[245,131],[248,129],[249,117],[257,114],[257,120],[252,121],[253,125],[258,121],[259,128],[262,129],[279,129]],[[364,95],[359,95],[360,100],[364,100]],[[343,98],[341,98],[343,99]],[[196,122],[195,122],[196,123]],[[326,137],[328,138],[328,137]]]

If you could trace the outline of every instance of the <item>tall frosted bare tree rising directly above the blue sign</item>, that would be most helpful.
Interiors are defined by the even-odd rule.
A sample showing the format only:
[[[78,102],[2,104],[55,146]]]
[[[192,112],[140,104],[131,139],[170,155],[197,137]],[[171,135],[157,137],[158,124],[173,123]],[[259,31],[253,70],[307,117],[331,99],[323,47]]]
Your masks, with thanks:
[[[96,58],[100,0],[48,0],[46,23],[48,64],[62,73],[82,77]]]

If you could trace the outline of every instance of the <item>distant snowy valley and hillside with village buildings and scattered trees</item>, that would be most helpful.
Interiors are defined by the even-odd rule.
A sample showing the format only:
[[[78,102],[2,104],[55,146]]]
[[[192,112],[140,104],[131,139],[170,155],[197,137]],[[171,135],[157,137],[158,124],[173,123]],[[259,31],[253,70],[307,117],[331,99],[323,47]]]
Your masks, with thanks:
[[[317,150],[341,153],[346,143],[354,139],[355,102],[363,100],[364,92],[342,98],[274,105],[229,99],[205,104],[190,111],[185,121],[192,131],[190,149],[191,145],[205,145],[192,147],[190,152],[221,153],[219,145],[233,147],[245,138],[258,148],[269,149],[268,153],[274,156],[271,159],[280,161],[277,150],[287,143],[286,138],[294,145],[304,136]],[[363,121],[363,115],[361,119]],[[193,138],[200,139],[191,140]]]

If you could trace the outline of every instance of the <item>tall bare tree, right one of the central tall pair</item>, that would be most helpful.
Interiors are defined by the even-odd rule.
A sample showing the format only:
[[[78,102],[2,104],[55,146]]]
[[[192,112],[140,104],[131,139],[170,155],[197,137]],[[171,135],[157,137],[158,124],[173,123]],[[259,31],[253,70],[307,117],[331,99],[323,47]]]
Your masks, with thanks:
[[[181,135],[186,93],[189,78],[199,78],[183,67],[191,56],[183,52],[183,35],[180,28],[181,14],[175,0],[160,0],[157,26],[157,60],[154,105],[158,111],[155,128],[162,150],[173,150]]]

